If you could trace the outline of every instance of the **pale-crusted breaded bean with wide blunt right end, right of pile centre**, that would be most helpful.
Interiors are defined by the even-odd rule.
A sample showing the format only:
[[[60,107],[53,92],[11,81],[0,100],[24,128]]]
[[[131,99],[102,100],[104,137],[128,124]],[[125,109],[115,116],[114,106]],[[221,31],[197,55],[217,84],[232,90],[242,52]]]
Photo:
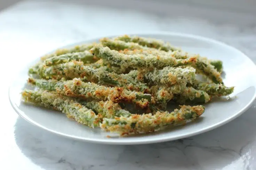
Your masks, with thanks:
[[[192,67],[179,68],[167,66],[161,70],[154,69],[154,71],[131,70],[127,75],[149,85],[162,84],[165,86],[171,86],[176,83],[186,85],[187,83],[192,84],[195,81],[195,69]]]

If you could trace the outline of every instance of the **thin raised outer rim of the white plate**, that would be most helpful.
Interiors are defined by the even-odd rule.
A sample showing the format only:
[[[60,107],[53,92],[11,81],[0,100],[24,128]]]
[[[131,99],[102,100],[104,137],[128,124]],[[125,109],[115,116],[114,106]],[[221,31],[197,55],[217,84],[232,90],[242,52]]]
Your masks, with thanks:
[[[133,32],[133,33],[126,33],[127,35],[139,35],[139,36],[143,36],[143,35],[168,35],[168,36],[182,36],[182,37],[190,37],[193,39],[198,39],[198,40],[202,40],[202,41],[207,41],[207,42],[212,42],[221,46],[225,46],[226,48],[229,48],[231,50],[234,50],[238,53],[240,53],[241,55],[243,55],[244,57],[248,58],[254,65],[255,69],[256,69],[256,64],[253,62],[253,60],[251,60],[251,58],[249,58],[245,53],[243,53],[242,51],[240,51],[237,48],[234,48],[231,45],[228,45],[224,42],[221,41],[217,41],[214,39],[211,39],[209,37],[205,37],[205,36],[200,36],[200,35],[195,35],[195,34],[187,34],[187,33],[179,33],[179,32],[165,32],[165,31],[150,31],[150,32],[143,32],[143,33],[139,33],[139,32]],[[59,48],[67,48],[69,46],[74,46],[74,45],[78,45],[78,44],[82,44],[85,43],[86,41],[90,41],[90,40],[99,40],[102,37],[114,37],[114,36],[120,36],[120,35],[124,35],[124,34],[108,34],[105,36],[94,36],[94,37],[88,37],[83,41],[79,41],[79,42],[75,42],[69,45],[65,45],[65,46],[61,46]],[[59,49],[58,48],[58,49]],[[57,50],[57,49],[55,49]],[[52,50],[48,53],[54,52],[55,50]],[[46,53],[47,54],[47,53]],[[32,63],[34,63],[35,61],[37,61],[40,57],[38,57],[37,59],[33,60],[32,62],[27,63],[27,65],[25,65],[25,67],[22,68],[22,70],[25,70],[25,68],[27,66],[30,66]],[[252,99],[250,100],[250,102],[247,103],[247,105],[245,107],[243,107],[237,114],[233,114],[233,116],[226,118],[220,122],[218,122],[217,124],[208,126],[207,128],[204,128],[202,130],[197,130],[193,133],[189,133],[189,134],[183,134],[183,135],[179,135],[176,137],[168,137],[168,136],[164,136],[161,137],[159,139],[136,139],[136,141],[132,141],[132,142],[128,142],[128,141],[117,141],[117,140],[110,140],[109,138],[106,139],[93,139],[93,138],[89,138],[89,137],[79,137],[79,136],[74,136],[74,135],[68,135],[65,133],[61,133],[58,132],[56,130],[52,130],[49,129],[41,124],[39,124],[38,122],[35,122],[34,120],[32,120],[31,118],[27,117],[26,114],[23,114],[19,111],[19,109],[17,108],[16,104],[13,103],[13,101],[11,100],[11,96],[10,96],[10,90],[11,87],[13,86],[15,82],[15,79],[10,83],[9,88],[8,88],[8,97],[9,97],[9,102],[11,104],[11,106],[13,107],[13,109],[15,110],[15,112],[22,117],[23,119],[25,119],[26,121],[30,122],[32,125],[38,126],[44,130],[47,130],[53,134],[56,134],[58,136],[62,136],[65,138],[69,138],[69,139],[73,139],[73,140],[79,140],[79,141],[84,141],[84,142],[90,142],[90,143],[97,143],[97,144],[110,144],[110,145],[139,145],[139,144],[150,144],[150,143],[161,143],[161,142],[167,142],[167,141],[174,141],[177,139],[182,139],[182,138],[187,138],[187,137],[191,137],[191,136],[195,136],[195,135],[199,135],[199,134],[203,134],[207,131],[211,131],[213,129],[216,129],[218,127],[221,127],[227,123],[229,123],[230,121],[234,120],[235,118],[241,116],[241,114],[243,114],[245,111],[247,111],[252,105],[253,103],[256,101],[256,93],[254,94],[254,96],[252,97]]]

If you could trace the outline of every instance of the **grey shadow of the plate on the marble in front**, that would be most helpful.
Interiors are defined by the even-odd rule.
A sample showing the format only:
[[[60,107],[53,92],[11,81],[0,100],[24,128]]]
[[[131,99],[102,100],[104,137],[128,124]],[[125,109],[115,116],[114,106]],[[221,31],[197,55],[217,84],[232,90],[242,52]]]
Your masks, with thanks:
[[[21,118],[14,134],[21,152],[45,169],[254,169],[255,108],[248,112],[205,134],[159,144],[114,146],[72,141]]]

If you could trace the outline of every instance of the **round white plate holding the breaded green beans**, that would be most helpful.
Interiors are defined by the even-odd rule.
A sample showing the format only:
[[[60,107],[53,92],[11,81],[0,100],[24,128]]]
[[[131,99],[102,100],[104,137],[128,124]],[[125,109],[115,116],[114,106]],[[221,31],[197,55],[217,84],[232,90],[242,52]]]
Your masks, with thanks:
[[[100,129],[88,128],[66,118],[64,114],[59,112],[33,107],[20,101],[20,92],[24,88],[28,88],[26,86],[27,71],[31,65],[37,62],[34,61],[23,70],[17,71],[18,76],[9,88],[11,105],[27,121],[58,135],[94,143],[145,144],[171,141],[217,128],[241,115],[255,100],[256,66],[253,61],[239,50],[221,42],[195,35],[163,32],[136,35],[162,39],[188,52],[199,53],[209,59],[222,60],[225,72],[224,83],[227,86],[235,86],[234,93],[230,96],[232,99],[206,104],[206,111],[201,116],[202,118],[183,127],[149,135],[107,138],[106,135],[109,135],[109,133]],[[77,44],[98,40],[99,38],[86,40]],[[73,45],[75,44],[70,46]]]

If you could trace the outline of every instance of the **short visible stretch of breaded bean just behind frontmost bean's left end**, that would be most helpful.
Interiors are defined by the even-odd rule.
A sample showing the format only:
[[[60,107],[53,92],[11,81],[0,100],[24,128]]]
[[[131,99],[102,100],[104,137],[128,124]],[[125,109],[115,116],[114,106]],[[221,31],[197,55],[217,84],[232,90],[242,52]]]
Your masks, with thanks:
[[[91,101],[83,102],[82,104],[98,114],[101,114],[101,116],[105,118],[131,116],[129,111],[122,109],[118,103],[113,103],[112,101]]]

